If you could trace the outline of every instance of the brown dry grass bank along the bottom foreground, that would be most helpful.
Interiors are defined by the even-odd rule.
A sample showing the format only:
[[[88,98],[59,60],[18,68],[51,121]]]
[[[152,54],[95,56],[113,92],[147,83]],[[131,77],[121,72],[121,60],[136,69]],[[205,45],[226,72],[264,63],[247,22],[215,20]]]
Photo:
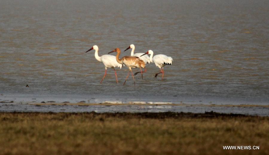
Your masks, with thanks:
[[[269,117],[0,112],[0,154],[269,154]]]

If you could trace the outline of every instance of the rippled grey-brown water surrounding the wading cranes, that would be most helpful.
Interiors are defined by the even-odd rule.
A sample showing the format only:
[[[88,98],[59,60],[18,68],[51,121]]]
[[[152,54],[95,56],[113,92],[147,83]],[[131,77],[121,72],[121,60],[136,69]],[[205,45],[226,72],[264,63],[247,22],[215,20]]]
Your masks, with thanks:
[[[256,0],[0,1],[0,99],[268,104],[268,6]],[[119,84],[112,69],[100,84],[103,63],[85,51],[98,45],[104,55],[130,44],[135,53],[171,56],[165,79],[155,79],[159,69],[148,64],[136,86],[131,77],[122,86],[126,67],[117,71]]]

